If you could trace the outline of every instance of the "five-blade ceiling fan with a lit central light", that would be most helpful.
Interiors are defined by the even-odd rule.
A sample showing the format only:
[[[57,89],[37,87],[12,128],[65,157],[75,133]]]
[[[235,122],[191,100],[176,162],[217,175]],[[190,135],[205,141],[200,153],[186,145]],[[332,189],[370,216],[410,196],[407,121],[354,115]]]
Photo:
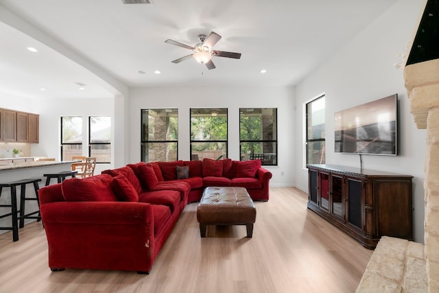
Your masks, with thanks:
[[[193,57],[195,58],[195,60],[197,60],[197,62],[201,64],[205,64],[207,69],[211,70],[216,68],[212,62],[212,56],[235,58],[235,59],[241,58],[241,53],[213,50],[212,47],[218,42],[219,39],[221,39],[221,36],[219,36],[219,34],[215,32],[211,32],[211,34],[209,34],[207,38],[205,34],[199,34],[198,39],[200,40],[200,43],[195,45],[194,47],[182,43],[178,43],[175,40],[170,40],[170,39],[165,40],[165,43],[176,45],[178,47],[183,47],[186,49],[191,49],[193,51],[193,54],[187,55],[182,58],[178,58],[171,62],[180,63],[184,60]]]

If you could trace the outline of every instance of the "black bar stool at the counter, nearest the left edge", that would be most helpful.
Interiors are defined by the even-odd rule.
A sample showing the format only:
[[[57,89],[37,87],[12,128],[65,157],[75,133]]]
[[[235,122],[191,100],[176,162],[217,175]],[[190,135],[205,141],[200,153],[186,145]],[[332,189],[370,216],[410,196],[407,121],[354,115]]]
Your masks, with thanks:
[[[0,230],[12,230],[12,240],[14,242],[19,240],[19,227],[23,228],[23,226],[25,225],[25,219],[36,219],[38,222],[41,220],[40,200],[38,198],[38,189],[39,189],[38,182],[40,181],[41,181],[40,178],[33,178],[33,179],[18,180],[10,183],[0,183],[0,196],[3,187],[10,187],[11,189],[11,204],[0,204],[0,207],[10,207],[11,212],[6,213],[4,215],[0,215],[0,219],[8,217],[9,215],[12,216],[12,227],[0,227]],[[35,198],[26,198],[26,185],[30,183],[34,184],[35,196],[36,196]],[[17,208],[17,204],[16,204],[17,186],[20,186],[20,209]],[[33,211],[32,213],[25,214],[26,200],[36,200],[36,202],[38,203],[38,211]],[[20,213],[19,216],[18,213]],[[35,215],[36,213],[38,213],[38,215]]]

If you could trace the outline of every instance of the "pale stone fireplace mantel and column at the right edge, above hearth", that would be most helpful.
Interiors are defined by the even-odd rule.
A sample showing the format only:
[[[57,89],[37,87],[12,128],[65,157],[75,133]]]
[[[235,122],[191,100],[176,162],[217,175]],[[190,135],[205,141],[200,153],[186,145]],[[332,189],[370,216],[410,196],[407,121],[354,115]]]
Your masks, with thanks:
[[[429,292],[439,292],[439,59],[408,65],[405,88],[416,126],[427,129],[425,258]]]

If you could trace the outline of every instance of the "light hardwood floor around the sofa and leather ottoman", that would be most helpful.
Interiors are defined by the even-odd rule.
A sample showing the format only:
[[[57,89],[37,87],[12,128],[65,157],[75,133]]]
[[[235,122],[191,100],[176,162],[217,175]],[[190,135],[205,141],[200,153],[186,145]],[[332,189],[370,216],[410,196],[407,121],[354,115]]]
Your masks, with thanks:
[[[208,226],[200,238],[197,203],[188,204],[149,275],[51,272],[44,228],[33,222],[18,242],[0,235],[0,292],[355,292],[372,250],[309,211],[307,194],[272,187],[256,207],[251,239],[245,226]]]

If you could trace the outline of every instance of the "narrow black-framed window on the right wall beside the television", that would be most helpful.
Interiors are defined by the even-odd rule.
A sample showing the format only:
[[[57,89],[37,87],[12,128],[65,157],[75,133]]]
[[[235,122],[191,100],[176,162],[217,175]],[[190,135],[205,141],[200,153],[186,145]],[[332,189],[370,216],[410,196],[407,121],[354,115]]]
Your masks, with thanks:
[[[324,164],[324,95],[307,103],[307,164]]]

